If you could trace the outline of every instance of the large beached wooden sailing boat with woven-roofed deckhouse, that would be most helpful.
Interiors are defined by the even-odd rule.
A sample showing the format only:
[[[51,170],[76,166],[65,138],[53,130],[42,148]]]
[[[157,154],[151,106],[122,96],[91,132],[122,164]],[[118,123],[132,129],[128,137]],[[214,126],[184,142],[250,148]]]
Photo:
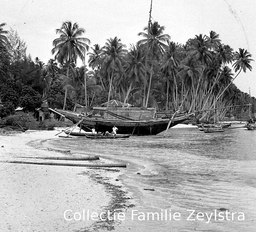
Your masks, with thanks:
[[[90,131],[112,131],[115,125],[120,134],[156,135],[166,130],[170,118],[158,114],[155,108],[94,107],[92,114],[85,116],[80,112],[55,109],[54,112],[71,120],[74,124],[81,121],[81,128]],[[168,128],[171,128],[194,116],[194,113],[177,113]]]

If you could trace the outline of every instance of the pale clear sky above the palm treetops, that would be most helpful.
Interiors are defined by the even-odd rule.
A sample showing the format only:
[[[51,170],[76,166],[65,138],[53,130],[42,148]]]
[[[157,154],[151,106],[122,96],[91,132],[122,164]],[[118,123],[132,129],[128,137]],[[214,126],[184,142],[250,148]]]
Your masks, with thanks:
[[[165,26],[172,41],[181,44],[216,31],[222,43],[234,51],[247,49],[256,60],[255,9],[255,0],[153,0],[152,21]],[[62,22],[77,22],[84,28],[90,47],[118,36],[129,48],[141,39],[137,34],[148,24],[149,10],[150,0],[1,0],[0,23],[18,31],[32,59],[47,63],[54,58],[52,41]],[[243,92],[249,93],[250,87],[256,97],[256,62],[251,65],[252,72],[240,73],[234,83]]]

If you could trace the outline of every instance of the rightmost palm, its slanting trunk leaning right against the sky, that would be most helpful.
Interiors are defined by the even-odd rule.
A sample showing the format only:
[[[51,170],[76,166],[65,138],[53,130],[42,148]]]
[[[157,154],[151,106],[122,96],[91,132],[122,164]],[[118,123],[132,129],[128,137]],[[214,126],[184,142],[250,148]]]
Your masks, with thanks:
[[[246,73],[247,69],[252,71],[252,66],[250,65],[250,63],[251,61],[254,61],[254,60],[250,59],[250,57],[252,57],[252,54],[250,54],[247,50],[244,51],[244,49],[239,48],[239,51],[236,51],[236,53],[234,54],[235,63],[232,65],[234,67],[235,72],[239,70],[236,77],[239,75],[239,73],[242,70],[244,71],[244,73]],[[218,94],[218,97],[216,98],[215,101],[217,101],[220,98],[220,96],[222,96],[222,94],[231,85],[231,83],[233,83],[236,77],[234,77],[234,79],[226,86],[226,88],[220,94]]]

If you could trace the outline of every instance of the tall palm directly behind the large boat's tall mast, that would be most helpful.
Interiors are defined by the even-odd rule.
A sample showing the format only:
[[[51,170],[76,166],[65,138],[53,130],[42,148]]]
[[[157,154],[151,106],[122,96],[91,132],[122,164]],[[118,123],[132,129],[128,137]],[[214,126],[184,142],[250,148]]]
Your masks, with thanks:
[[[145,32],[140,32],[138,33],[139,36],[143,36],[148,39],[141,39],[138,41],[138,45],[146,45],[148,42],[148,49],[149,49],[149,54],[152,57],[152,59],[159,59],[162,54],[164,53],[164,49],[167,48],[167,43],[171,37],[168,34],[164,34],[164,26],[160,26],[158,22],[150,23],[150,27],[145,27],[144,31]],[[148,49],[146,49],[146,61],[145,61],[145,69],[147,69],[147,63],[148,63]],[[143,91],[143,106],[147,107],[148,104],[148,97],[149,97],[149,92],[150,92],[150,85],[151,85],[151,79],[152,79],[152,65],[151,65],[151,71],[150,71],[150,81],[148,85],[148,96],[147,100],[145,103],[146,99],[146,75],[147,72],[145,70],[145,78],[144,78],[144,91]]]

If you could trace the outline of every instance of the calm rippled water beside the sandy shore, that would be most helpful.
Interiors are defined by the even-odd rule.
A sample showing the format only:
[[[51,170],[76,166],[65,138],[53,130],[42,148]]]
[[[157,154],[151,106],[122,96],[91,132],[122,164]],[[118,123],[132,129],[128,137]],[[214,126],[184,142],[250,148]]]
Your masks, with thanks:
[[[115,231],[256,231],[256,131],[243,128],[234,133],[205,134],[196,128],[172,128],[170,138],[154,136],[122,140],[57,139],[48,145],[91,154],[100,154],[128,164],[121,176],[133,193],[138,212],[171,209],[181,220],[126,220]],[[139,172],[141,175],[137,175]],[[144,188],[155,189],[146,191]],[[243,212],[244,221],[214,220],[205,215],[216,209]],[[204,220],[196,219],[203,212]],[[228,219],[232,217],[229,214]],[[201,219],[201,218],[200,218]],[[217,215],[218,219],[218,215]]]

